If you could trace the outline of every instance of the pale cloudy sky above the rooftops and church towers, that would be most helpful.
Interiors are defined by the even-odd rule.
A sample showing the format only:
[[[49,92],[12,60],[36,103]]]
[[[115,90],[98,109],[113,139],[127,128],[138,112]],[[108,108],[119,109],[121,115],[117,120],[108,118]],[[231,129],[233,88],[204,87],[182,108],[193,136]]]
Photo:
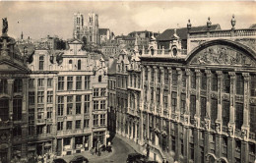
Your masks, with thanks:
[[[186,27],[188,19],[192,27],[212,24],[223,29],[231,28],[234,14],[236,28],[256,24],[256,2],[245,1],[51,1],[51,2],[2,2],[0,18],[7,17],[8,34],[15,38],[24,32],[25,38],[37,39],[58,35],[72,37],[73,14],[80,12],[87,18],[89,12],[98,14],[99,27],[110,28],[118,34],[134,30],[164,31],[166,28]],[[87,20],[87,19],[86,19]],[[19,24],[18,24],[19,22]],[[2,25],[2,23],[1,23]]]

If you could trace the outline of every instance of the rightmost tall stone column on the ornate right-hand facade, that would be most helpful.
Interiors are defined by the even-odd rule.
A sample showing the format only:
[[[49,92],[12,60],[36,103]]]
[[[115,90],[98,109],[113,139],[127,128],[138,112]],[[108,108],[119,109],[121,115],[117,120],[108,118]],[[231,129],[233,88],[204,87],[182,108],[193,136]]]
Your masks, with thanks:
[[[243,96],[243,125],[242,125],[242,136],[243,139],[247,140],[249,137],[250,125],[249,125],[249,95],[250,95],[250,87],[249,87],[249,73],[242,74],[244,79],[244,96]]]

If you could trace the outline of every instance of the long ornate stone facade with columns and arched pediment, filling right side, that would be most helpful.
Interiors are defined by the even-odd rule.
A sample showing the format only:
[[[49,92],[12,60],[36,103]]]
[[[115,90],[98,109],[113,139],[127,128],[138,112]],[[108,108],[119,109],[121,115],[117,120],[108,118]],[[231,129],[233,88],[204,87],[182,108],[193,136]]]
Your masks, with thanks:
[[[209,19],[200,31],[190,31],[189,23],[187,49],[175,29],[168,49],[159,49],[153,37],[139,57],[141,88],[133,62],[126,73],[119,61],[117,76],[120,70],[129,80],[120,88],[128,107],[126,114],[126,106],[117,107],[117,133],[138,139],[141,151],[160,162],[254,162],[256,30],[231,23],[232,29],[212,30]]]

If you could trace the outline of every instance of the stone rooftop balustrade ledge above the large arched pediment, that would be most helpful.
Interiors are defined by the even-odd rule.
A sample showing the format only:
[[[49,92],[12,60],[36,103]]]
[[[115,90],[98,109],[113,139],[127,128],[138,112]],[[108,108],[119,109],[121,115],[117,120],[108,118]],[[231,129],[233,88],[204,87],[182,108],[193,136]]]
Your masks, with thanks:
[[[188,38],[255,37],[255,36],[256,36],[256,28],[192,31],[188,33]]]

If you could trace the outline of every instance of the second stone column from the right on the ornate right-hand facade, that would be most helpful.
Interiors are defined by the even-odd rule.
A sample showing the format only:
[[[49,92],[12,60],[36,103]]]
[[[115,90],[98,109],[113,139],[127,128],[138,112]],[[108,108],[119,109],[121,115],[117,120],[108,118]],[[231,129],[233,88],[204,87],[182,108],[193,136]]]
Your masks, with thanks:
[[[229,136],[234,136],[234,109],[235,109],[235,79],[236,75],[235,72],[228,72],[230,76],[230,112],[229,112],[229,123],[228,123],[228,134]]]

